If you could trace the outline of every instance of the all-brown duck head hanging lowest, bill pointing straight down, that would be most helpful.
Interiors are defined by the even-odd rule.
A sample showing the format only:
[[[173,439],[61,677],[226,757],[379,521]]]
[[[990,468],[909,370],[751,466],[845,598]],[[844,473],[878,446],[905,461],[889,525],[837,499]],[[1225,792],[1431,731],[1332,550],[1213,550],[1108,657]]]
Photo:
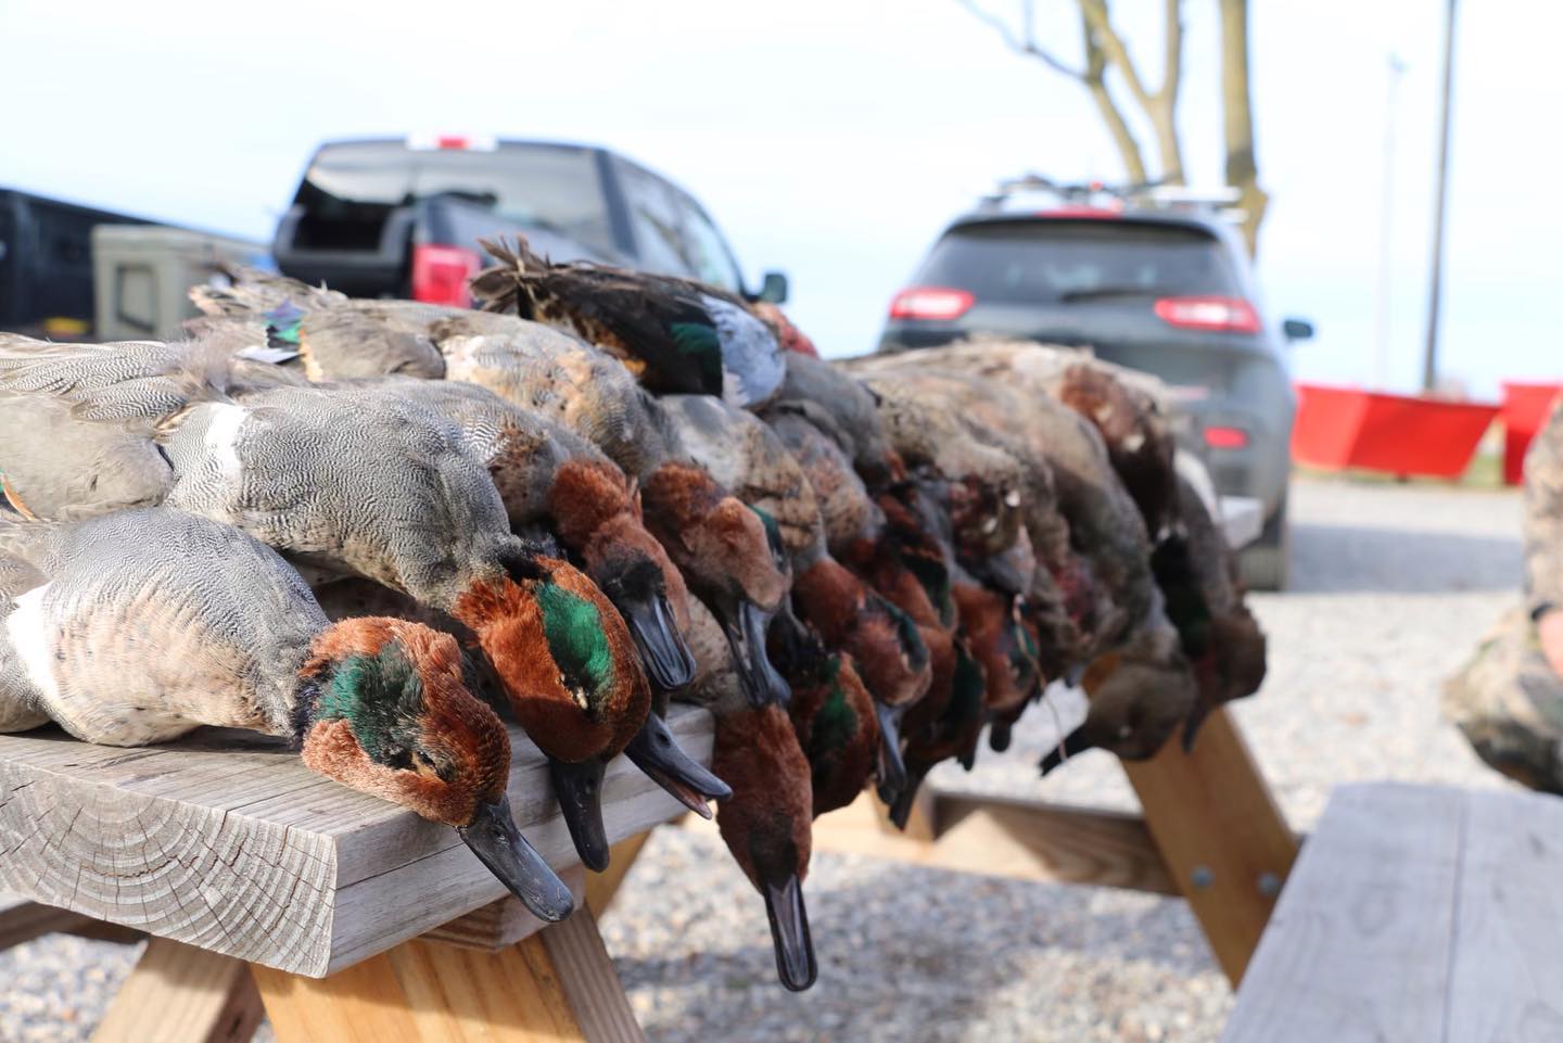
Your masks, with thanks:
[[[817,976],[803,905],[813,796],[786,711],[766,705],[719,716],[711,766],[733,787],[716,813],[722,841],[766,899],[782,984],[803,991]]]

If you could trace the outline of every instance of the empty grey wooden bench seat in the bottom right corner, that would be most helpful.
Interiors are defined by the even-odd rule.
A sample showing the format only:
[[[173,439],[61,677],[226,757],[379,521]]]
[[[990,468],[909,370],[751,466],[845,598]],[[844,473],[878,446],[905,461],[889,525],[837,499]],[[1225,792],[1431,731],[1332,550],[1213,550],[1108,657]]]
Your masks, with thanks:
[[[1563,799],[1336,790],[1221,1038],[1563,1038]]]

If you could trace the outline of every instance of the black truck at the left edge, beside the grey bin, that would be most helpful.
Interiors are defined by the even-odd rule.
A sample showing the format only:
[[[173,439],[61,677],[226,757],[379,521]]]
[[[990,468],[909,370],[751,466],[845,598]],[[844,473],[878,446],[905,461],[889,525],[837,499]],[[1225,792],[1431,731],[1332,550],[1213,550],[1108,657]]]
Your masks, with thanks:
[[[92,227],[144,224],[0,188],[0,330],[84,333],[92,325]]]

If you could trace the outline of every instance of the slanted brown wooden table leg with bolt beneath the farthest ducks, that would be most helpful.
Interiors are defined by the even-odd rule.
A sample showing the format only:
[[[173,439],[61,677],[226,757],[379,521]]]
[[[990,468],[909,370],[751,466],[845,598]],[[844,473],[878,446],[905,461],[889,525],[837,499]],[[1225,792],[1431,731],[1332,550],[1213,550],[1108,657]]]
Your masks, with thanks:
[[[1297,835],[1224,707],[1205,719],[1193,752],[1174,735],[1124,771],[1172,880],[1236,985],[1297,858]]]

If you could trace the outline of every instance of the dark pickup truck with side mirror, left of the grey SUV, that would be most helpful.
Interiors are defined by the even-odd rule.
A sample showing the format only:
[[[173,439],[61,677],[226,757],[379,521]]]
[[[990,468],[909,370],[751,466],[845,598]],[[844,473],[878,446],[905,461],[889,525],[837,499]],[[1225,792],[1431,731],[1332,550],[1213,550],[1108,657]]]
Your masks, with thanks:
[[[333,141],[305,170],[277,225],[286,275],[355,297],[467,305],[486,263],[478,239],[525,235],[553,260],[697,278],[780,303],[786,277],[750,292],[731,249],[692,195],[588,145],[477,138]]]

